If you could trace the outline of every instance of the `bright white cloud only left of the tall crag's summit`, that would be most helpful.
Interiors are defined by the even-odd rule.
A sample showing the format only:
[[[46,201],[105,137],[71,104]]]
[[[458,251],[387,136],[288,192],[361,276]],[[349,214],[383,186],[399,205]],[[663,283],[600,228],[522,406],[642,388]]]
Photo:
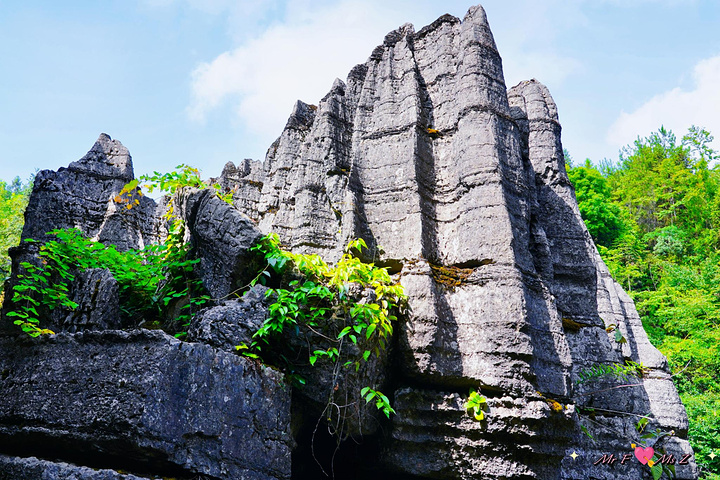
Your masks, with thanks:
[[[379,2],[317,8],[295,1],[286,12],[287,22],[195,69],[191,119],[202,122],[213,109],[234,105],[244,129],[271,141],[296,100],[317,103],[403,23],[401,13]]]

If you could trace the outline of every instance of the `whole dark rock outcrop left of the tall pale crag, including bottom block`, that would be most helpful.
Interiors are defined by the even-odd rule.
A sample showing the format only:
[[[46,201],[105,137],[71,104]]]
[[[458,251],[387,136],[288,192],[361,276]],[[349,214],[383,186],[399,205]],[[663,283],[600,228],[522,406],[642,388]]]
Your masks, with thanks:
[[[12,252],[10,288],[22,273],[20,262],[38,264],[42,242],[53,238],[41,232],[78,228],[127,249],[157,242],[166,231],[164,207],[153,200],[132,192],[137,203],[124,208],[129,203],[119,194],[133,179],[132,164],[120,142],[106,135],[68,169],[43,171],[38,179],[22,238],[39,242]],[[68,197],[73,189],[84,196]],[[210,191],[188,189],[174,202],[200,260],[197,274],[214,297],[230,296],[257,268],[249,248],[259,230]],[[102,214],[100,205],[107,207]],[[136,329],[137,319],[128,324],[109,270],[73,273],[68,296],[78,306],[42,318],[57,335],[18,337],[11,318],[4,318],[0,478],[290,478],[284,376],[228,352],[239,343],[235,334],[252,335],[262,324],[261,294],[209,309],[198,317],[194,341],[180,342]],[[212,322],[217,318],[223,323]]]

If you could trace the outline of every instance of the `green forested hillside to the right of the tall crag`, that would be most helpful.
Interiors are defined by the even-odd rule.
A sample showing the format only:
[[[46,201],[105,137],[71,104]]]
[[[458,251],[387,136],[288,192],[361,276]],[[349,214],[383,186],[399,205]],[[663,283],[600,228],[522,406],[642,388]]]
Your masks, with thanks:
[[[709,132],[661,128],[617,163],[568,173],[580,212],[615,279],[668,357],[708,479],[720,479],[720,168]]]

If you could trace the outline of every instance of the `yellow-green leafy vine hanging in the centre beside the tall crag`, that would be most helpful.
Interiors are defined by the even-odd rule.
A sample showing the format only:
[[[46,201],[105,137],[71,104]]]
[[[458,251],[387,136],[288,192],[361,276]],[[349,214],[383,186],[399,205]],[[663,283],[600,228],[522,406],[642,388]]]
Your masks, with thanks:
[[[284,250],[278,236],[264,237],[253,250],[262,254],[267,267],[255,282],[265,282],[273,275],[295,277],[286,287],[271,288],[268,318],[255,333],[251,345],[238,350],[253,358],[263,358],[287,329],[312,332],[327,345],[308,351],[307,362],[332,365],[332,385],[339,385],[343,370],[359,372],[372,357],[387,348],[393,333],[396,313],[404,308],[405,294],[385,268],[362,262],[355,252],[367,248],[365,241],[350,242],[340,260],[328,265],[318,255],[303,255]],[[292,372],[290,362],[285,370]],[[335,403],[335,391],[329,393],[328,405]],[[360,390],[366,402],[375,401],[385,415],[394,413],[389,399],[370,387]],[[341,434],[341,432],[339,432]]]

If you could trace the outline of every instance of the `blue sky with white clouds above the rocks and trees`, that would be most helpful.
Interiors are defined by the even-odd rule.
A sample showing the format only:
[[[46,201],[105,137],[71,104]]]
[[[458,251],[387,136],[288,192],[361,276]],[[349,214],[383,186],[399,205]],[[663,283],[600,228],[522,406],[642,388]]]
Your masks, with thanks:
[[[467,1],[0,0],[0,179],[77,160],[101,132],[136,174],[264,157],[384,35]],[[486,0],[508,87],[537,78],[576,160],[660,125],[720,138],[720,2]],[[720,149],[720,142],[714,144]]]

